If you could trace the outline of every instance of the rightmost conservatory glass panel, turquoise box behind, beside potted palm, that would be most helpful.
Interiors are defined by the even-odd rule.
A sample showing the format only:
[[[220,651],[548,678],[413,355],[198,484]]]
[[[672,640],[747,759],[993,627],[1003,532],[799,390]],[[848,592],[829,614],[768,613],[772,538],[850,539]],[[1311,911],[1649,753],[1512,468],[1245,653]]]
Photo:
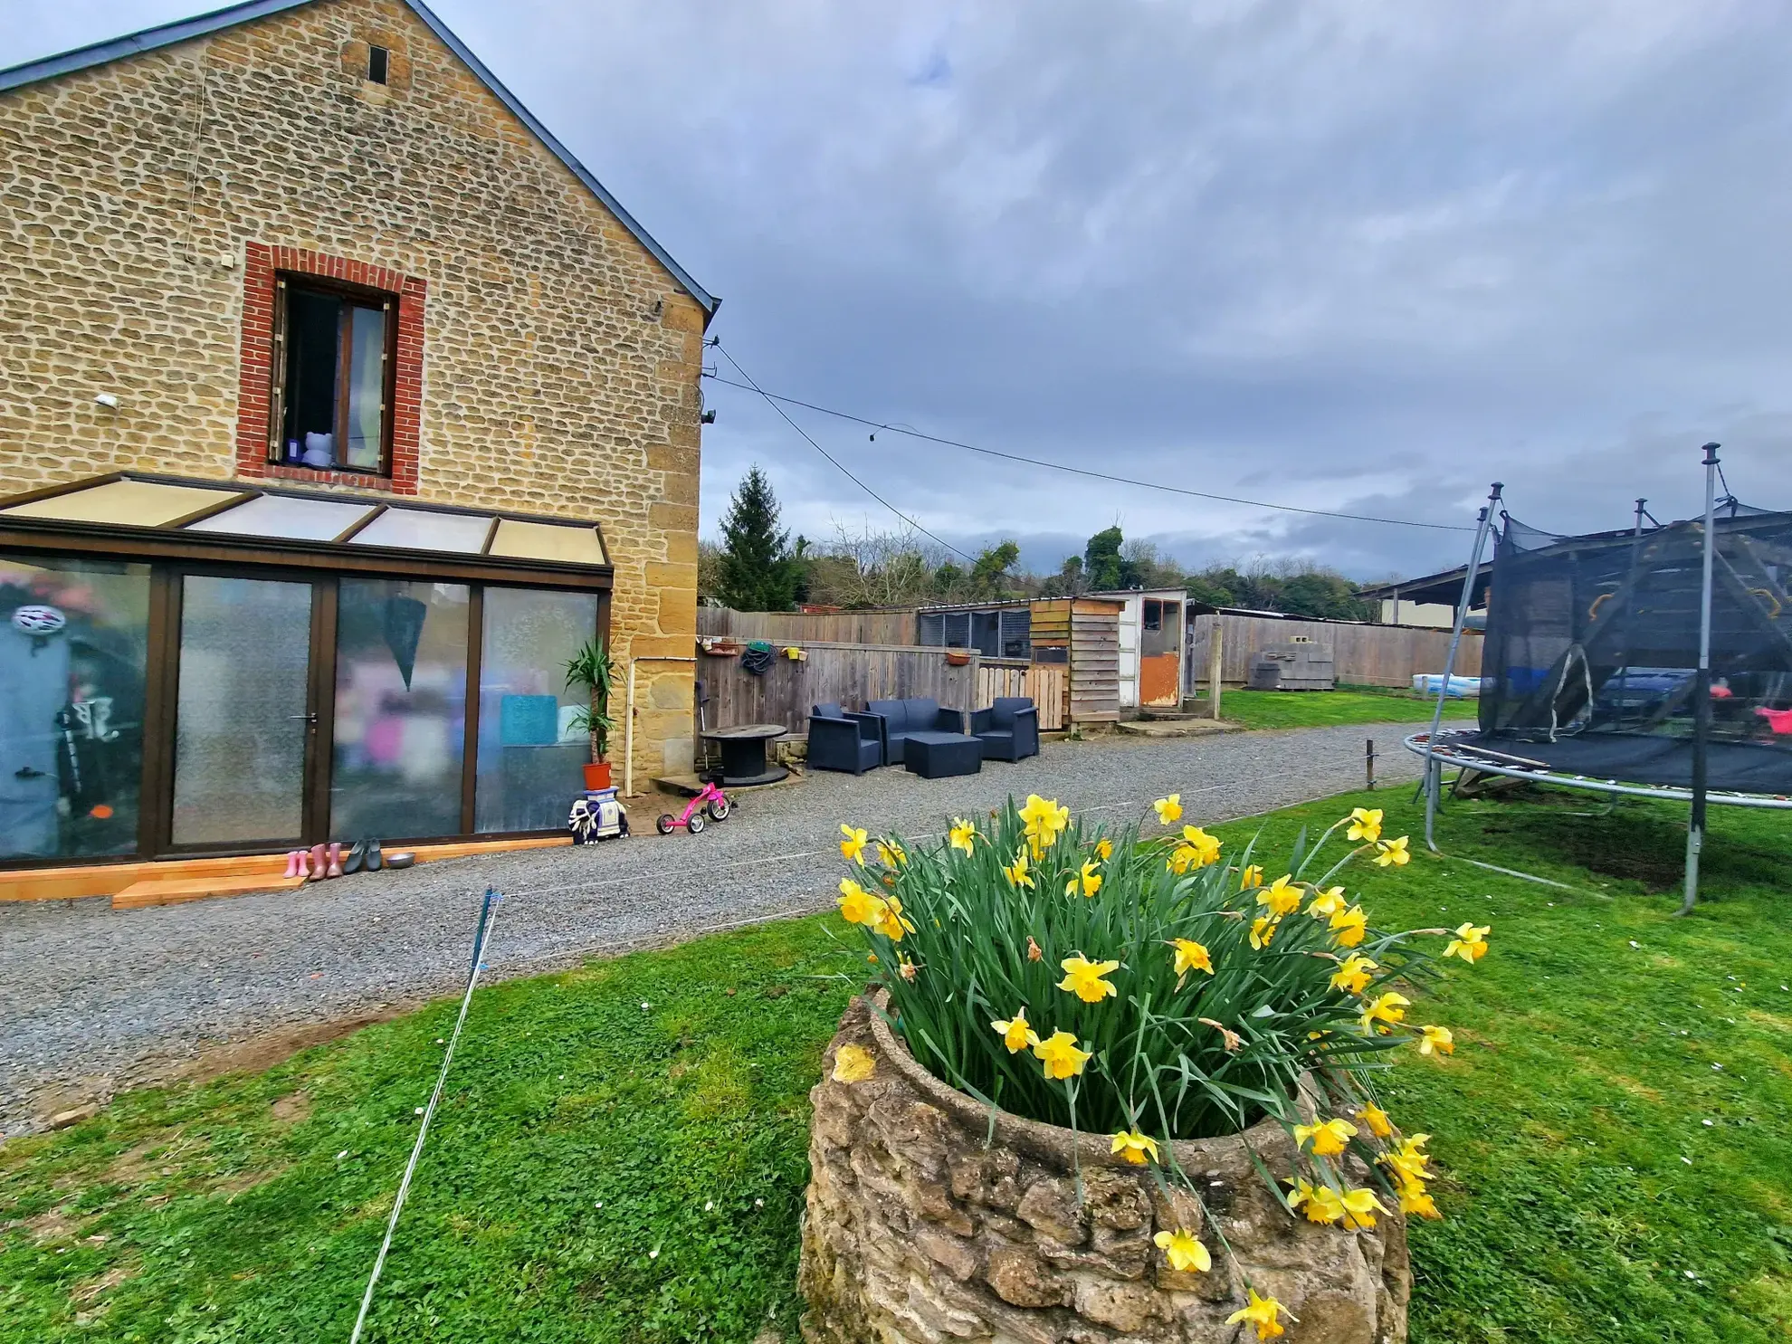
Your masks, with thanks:
[[[595,593],[486,590],[478,663],[478,792],[475,828],[532,831],[566,824],[584,788],[591,740],[566,720],[581,704],[566,663],[597,634]],[[611,715],[620,706],[611,702]],[[620,744],[618,744],[620,745]]]

